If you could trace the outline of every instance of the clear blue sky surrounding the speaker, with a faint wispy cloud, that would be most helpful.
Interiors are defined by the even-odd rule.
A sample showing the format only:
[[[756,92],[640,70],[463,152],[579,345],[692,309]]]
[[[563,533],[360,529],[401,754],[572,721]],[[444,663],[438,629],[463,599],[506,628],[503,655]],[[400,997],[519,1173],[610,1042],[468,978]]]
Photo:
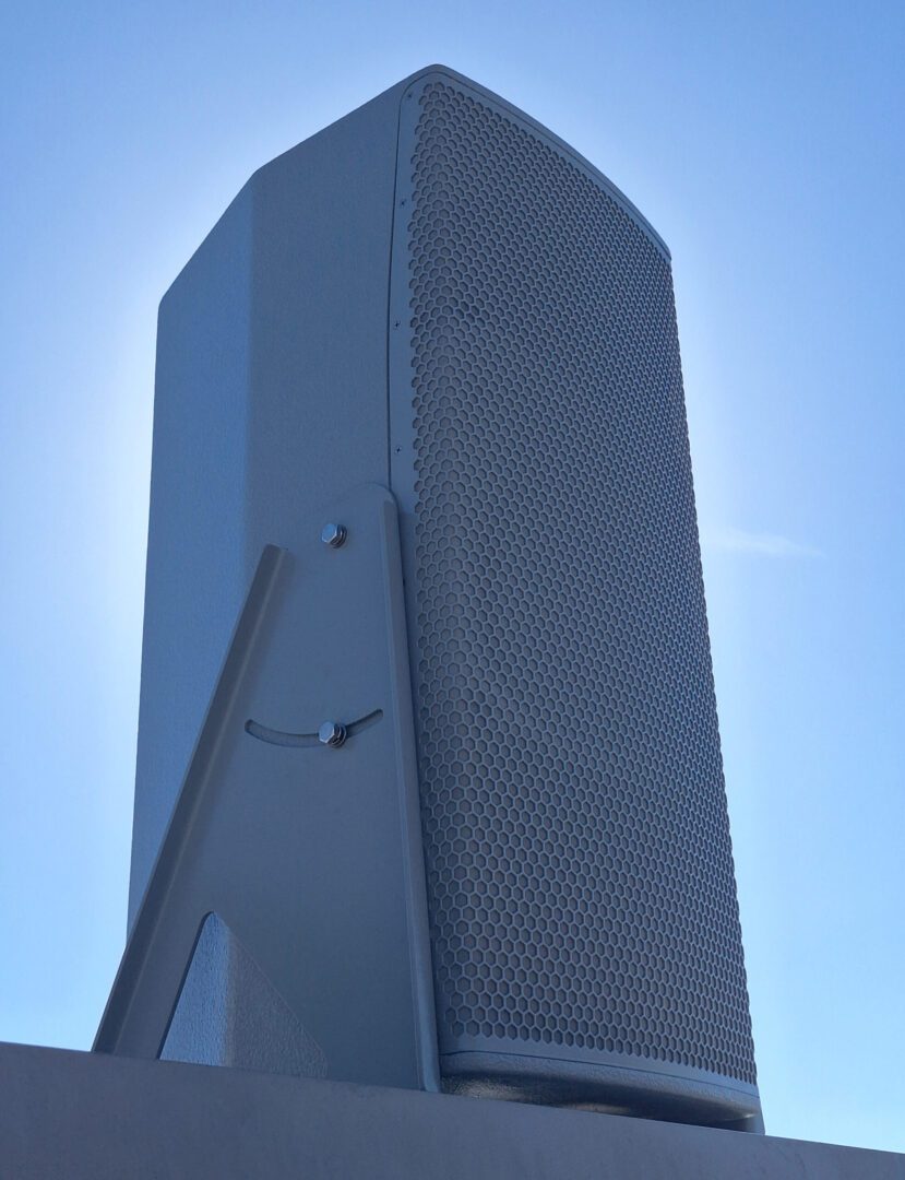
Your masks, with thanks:
[[[6,6],[0,1040],[119,959],[157,303],[245,178],[443,61],[673,251],[760,1084],[905,1149],[905,6]]]

